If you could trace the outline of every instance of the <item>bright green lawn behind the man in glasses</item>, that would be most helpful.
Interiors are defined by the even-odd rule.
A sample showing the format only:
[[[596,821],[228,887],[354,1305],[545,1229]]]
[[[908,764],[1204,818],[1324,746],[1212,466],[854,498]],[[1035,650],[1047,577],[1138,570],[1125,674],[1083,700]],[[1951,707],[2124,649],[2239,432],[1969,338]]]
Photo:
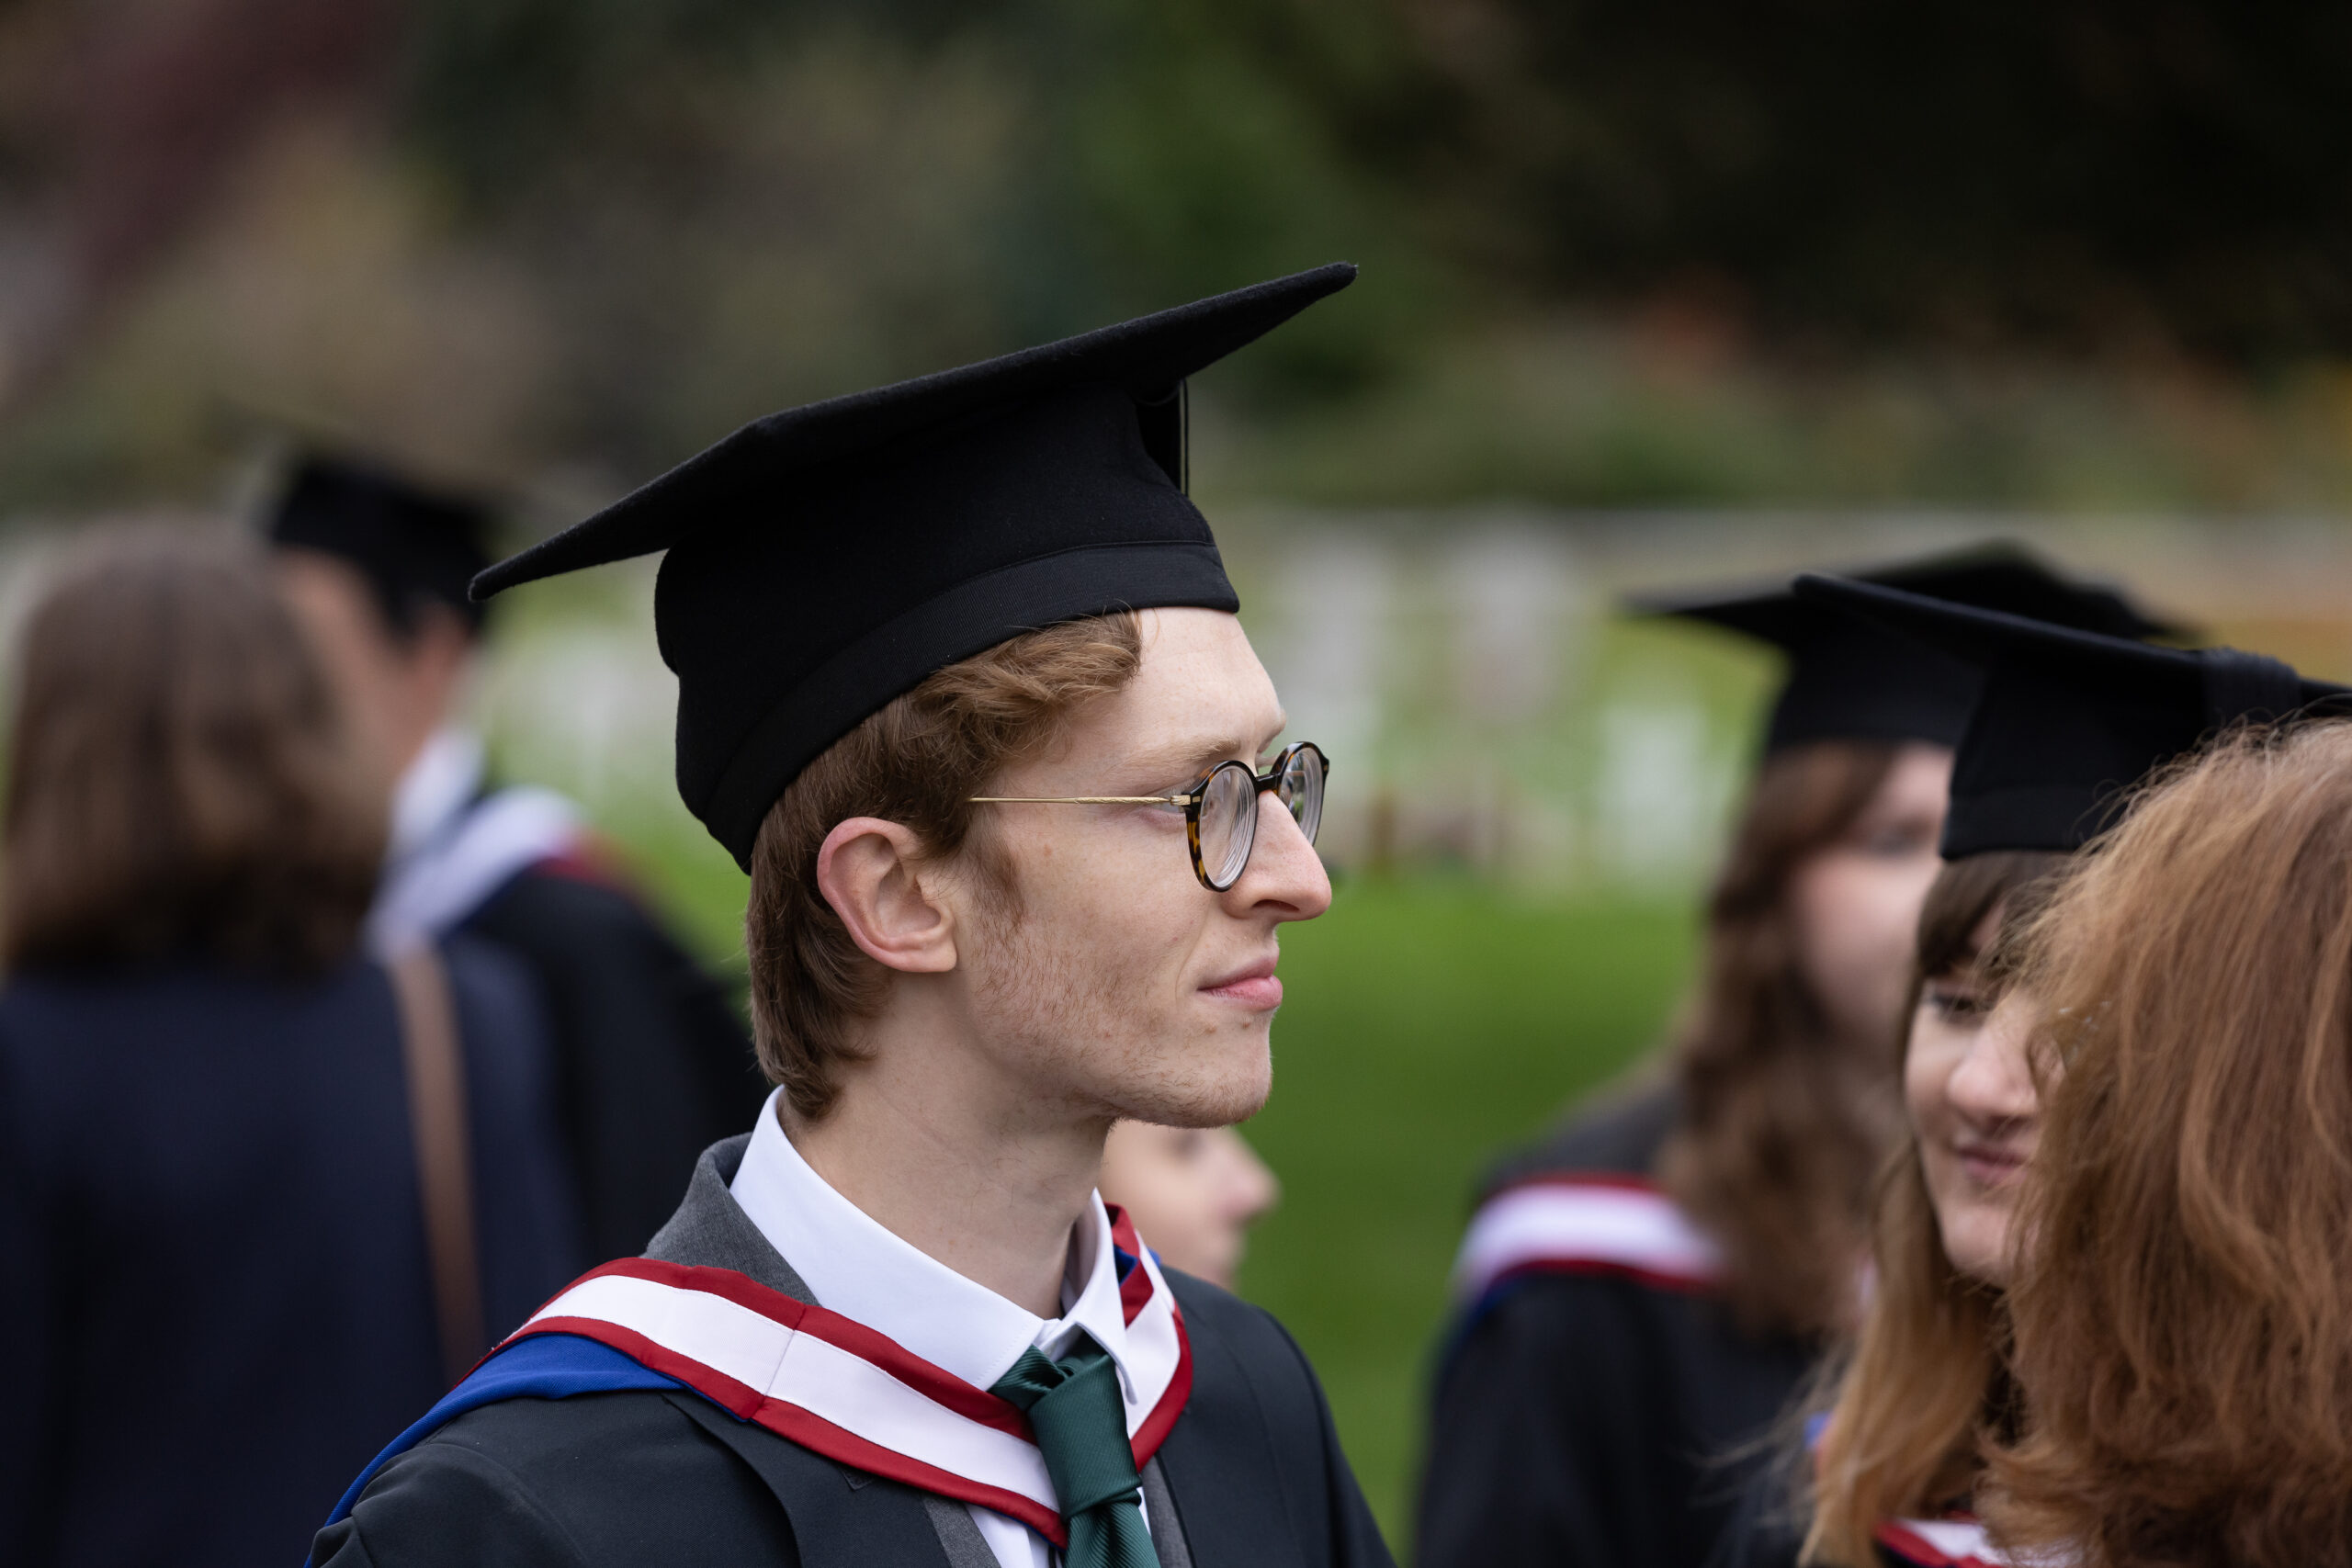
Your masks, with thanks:
[[[630,858],[741,971],[743,875],[663,816]],[[1282,936],[1275,1093],[1247,1135],[1282,1178],[1242,1293],[1312,1356],[1381,1526],[1411,1544],[1446,1267],[1477,1173],[1639,1060],[1682,992],[1689,900],[1529,900],[1477,879],[1341,877]]]

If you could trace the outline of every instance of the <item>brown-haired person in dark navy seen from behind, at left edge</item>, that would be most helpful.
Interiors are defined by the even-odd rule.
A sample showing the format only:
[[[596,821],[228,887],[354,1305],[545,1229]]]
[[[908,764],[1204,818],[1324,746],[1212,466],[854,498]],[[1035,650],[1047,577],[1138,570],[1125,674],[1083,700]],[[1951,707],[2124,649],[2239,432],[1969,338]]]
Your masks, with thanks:
[[[350,1469],[583,1260],[536,992],[463,938],[423,969],[473,1187],[473,1246],[435,1253],[412,1034],[360,952],[383,806],[266,562],[111,545],[33,611],[19,668],[0,1561],[292,1563]]]

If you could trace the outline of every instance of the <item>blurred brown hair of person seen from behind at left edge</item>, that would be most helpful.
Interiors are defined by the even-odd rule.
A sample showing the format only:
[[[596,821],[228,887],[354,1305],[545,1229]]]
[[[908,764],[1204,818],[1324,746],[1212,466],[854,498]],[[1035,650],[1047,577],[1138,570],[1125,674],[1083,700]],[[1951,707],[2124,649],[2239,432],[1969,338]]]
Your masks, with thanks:
[[[383,802],[261,559],[132,534],[26,623],[0,961],[318,971],[374,898]]]

